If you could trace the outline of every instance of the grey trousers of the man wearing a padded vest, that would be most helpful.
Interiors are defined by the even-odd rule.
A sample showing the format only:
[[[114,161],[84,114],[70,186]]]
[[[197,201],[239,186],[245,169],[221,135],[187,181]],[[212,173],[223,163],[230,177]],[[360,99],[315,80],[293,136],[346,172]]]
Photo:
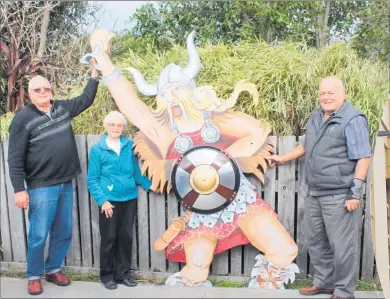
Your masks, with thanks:
[[[334,295],[352,297],[359,263],[359,209],[348,212],[347,195],[312,197],[305,201],[306,238],[315,274],[313,284],[334,288]]]

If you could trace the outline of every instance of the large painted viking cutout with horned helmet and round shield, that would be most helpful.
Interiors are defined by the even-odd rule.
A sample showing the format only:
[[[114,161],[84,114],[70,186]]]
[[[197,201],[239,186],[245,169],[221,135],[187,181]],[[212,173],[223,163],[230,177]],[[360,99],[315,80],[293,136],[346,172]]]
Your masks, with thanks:
[[[256,86],[239,82],[228,99],[220,99],[210,86],[197,87],[201,61],[194,46],[195,33],[187,38],[189,63],[169,64],[157,82],[127,69],[138,91],[156,97],[152,110],[137,96],[133,85],[108,56],[113,33],[97,29],[90,38],[92,53],[103,80],[120,111],[138,127],[135,153],[155,192],[174,192],[186,209],[155,241],[167,259],[185,263],[167,285],[204,286],[214,255],[251,243],[263,252],[256,257],[249,287],[284,289],[295,279],[292,263],[297,246],[276,213],[256,192],[244,173],[263,181],[264,159],[273,147],[264,122],[234,110],[242,91],[257,103]],[[260,171],[261,169],[261,171]]]

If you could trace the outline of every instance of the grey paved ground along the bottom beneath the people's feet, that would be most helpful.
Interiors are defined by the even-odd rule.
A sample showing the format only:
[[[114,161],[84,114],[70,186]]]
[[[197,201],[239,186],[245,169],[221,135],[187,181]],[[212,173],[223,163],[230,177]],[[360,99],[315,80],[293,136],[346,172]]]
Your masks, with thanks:
[[[38,296],[27,293],[27,282],[21,278],[0,278],[1,298],[329,298],[328,295],[307,297],[296,290],[264,291],[246,288],[175,288],[157,285],[139,285],[128,288],[118,285],[107,290],[101,283],[73,281],[59,287],[43,281],[44,292]],[[356,298],[384,298],[382,292],[356,292]]]

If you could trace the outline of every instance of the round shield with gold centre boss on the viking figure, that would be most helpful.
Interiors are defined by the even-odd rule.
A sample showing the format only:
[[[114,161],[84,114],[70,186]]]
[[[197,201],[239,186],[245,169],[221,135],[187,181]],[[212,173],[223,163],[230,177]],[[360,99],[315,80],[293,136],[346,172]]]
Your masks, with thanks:
[[[240,171],[219,148],[198,146],[177,160],[171,182],[176,197],[186,208],[211,214],[234,200],[240,187]]]

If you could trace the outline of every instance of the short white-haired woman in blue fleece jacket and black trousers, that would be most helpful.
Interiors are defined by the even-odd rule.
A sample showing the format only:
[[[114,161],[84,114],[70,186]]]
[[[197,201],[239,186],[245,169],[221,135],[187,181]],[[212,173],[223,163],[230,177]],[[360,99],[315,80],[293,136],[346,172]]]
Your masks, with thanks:
[[[141,174],[133,142],[122,135],[126,118],[113,111],[105,117],[104,127],[106,133],[91,148],[87,178],[101,210],[100,279],[107,289],[116,289],[117,283],[133,287],[137,284],[129,270],[137,185],[147,191],[151,182]]]

